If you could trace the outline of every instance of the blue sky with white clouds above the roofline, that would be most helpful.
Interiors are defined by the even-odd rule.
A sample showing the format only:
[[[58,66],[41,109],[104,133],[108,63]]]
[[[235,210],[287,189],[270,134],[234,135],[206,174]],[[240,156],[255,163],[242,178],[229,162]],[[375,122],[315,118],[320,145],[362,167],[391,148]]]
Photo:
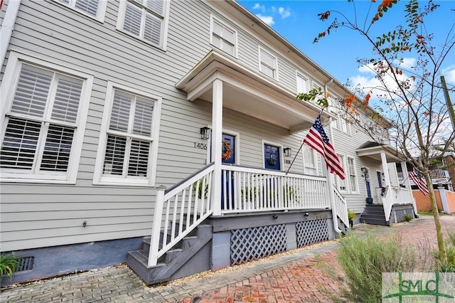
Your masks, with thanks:
[[[367,73],[365,69],[359,69],[356,58],[368,58],[371,55],[371,47],[365,38],[358,33],[347,28],[339,28],[330,36],[322,38],[319,43],[313,43],[314,38],[326,30],[331,21],[319,21],[318,14],[323,11],[335,10],[350,12],[351,3],[347,0],[307,0],[307,1],[257,1],[257,0],[237,0],[242,6],[262,19],[271,26],[277,33],[287,39],[294,46],[299,48],[304,54],[308,55],[324,70],[333,75],[341,83],[346,83],[348,78],[351,82],[365,84],[372,80],[373,74]],[[376,12],[380,0],[372,6],[372,12]],[[403,8],[407,1],[399,1],[398,4],[387,11],[385,17],[380,18],[374,24],[377,33],[383,33],[384,28],[395,29],[391,24],[397,21],[404,23]],[[422,4],[426,4],[422,1]],[[434,3],[440,4],[439,9],[434,11],[425,19],[425,24],[429,31],[434,33],[434,43],[441,43],[441,39],[446,38],[450,27],[455,21],[455,1],[445,0]],[[358,16],[365,16],[365,9],[368,9],[371,1],[355,1]],[[370,22],[373,14],[368,18]],[[365,19],[365,18],[363,18]],[[331,19],[332,20],[332,19]],[[360,21],[361,18],[358,18]],[[364,20],[360,21],[361,23]],[[441,26],[443,24],[443,26]],[[455,28],[452,28],[455,31]],[[373,31],[373,33],[375,33]],[[452,33],[453,35],[453,33]],[[376,35],[375,35],[376,36]],[[407,56],[412,56],[407,54]],[[409,58],[412,60],[412,58]],[[444,76],[449,87],[455,85],[455,50],[452,50],[451,57],[446,58],[443,66]],[[451,94],[453,95],[453,94]],[[453,98],[452,98],[453,100]]]

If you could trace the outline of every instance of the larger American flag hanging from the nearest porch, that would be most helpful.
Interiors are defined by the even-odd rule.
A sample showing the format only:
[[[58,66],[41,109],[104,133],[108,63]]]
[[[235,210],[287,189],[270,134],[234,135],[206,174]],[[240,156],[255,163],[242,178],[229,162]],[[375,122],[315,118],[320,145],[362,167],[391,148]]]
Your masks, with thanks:
[[[333,145],[328,141],[326,132],[324,132],[321,123],[321,115],[316,118],[316,121],[304,139],[304,143],[308,144],[324,157],[327,170],[330,171],[331,174],[335,173],[341,180],[345,179],[344,169],[343,166],[341,166],[340,159],[338,159],[335,149],[333,149]]]

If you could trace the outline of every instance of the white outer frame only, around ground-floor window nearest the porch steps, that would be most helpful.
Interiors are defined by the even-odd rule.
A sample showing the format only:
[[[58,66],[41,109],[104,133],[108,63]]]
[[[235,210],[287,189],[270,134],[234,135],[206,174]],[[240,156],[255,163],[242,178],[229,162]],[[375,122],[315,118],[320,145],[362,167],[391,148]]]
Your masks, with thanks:
[[[114,176],[103,176],[103,166],[105,161],[106,146],[107,146],[107,135],[109,130],[110,118],[112,105],[114,102],[114,92],[119,90],[128,94],[137,95],[139,97],[145,97],[147,99],[154,100],[154,113],[151,125],[151,148],[149,149],[149,167],[147,168],[148,178],[137,178],[137,177],[114,177]],[[107,83],[107,93],[105,100],[105,110],[102,116],[100,142],[98,144],[97,159],[95,162],[95,174],[93,178],[93,184],[95,185],[122,185],[122,186],[155,186],[156,179],[156,162],[158,159],[158,144],[159,144],[159,125],[161,117],[161,103],[162,98],[154,94],[154,92],[137,90],[126,85],[113,83],[109,81]]]

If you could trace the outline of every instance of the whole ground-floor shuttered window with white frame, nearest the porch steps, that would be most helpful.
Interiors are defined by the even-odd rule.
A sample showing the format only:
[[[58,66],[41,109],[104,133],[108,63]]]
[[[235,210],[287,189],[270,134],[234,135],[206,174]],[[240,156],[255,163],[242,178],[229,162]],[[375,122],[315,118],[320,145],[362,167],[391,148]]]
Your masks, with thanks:
[[[161,100],[108,85],[95,183],[153,185]]]

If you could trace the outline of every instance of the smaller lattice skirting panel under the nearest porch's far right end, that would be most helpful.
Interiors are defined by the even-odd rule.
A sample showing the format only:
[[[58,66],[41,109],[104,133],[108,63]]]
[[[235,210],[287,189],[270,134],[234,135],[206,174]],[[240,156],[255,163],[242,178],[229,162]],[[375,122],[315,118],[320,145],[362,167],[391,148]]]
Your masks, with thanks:
[[[297,247],[328,240],[326,219],[310,220],[296,223]]]

